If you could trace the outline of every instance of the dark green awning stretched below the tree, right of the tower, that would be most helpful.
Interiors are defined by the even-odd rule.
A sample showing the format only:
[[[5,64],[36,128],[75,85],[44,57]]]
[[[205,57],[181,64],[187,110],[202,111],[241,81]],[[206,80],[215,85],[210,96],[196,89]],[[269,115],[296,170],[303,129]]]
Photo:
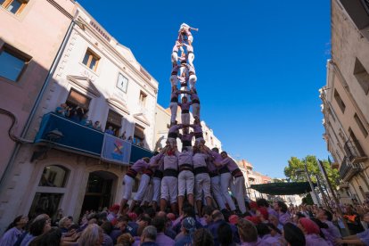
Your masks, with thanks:
[[[314,187],[315,186],[316,184],[314,184]],[[251,184],[250,188],[257,190],[259,193],[271,195],[290,195],[311,192],[308,182]]]

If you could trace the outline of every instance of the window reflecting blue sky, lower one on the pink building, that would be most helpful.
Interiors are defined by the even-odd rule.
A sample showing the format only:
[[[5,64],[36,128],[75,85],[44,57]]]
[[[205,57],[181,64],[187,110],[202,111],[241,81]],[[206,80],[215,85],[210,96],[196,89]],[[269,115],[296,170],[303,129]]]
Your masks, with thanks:
[[[0,76],[19,81],[21,73],[29,63],[31,57],[10,45],[4,45],[0,50]]]

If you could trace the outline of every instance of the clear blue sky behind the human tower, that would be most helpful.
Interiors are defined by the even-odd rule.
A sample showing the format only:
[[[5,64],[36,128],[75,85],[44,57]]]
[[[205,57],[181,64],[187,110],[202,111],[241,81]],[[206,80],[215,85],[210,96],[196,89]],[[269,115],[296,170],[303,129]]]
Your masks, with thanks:
[[[159,81],[163,107],[179,25],[199,28],[201,118],[234,158],[272,177],[284,176],[291,156],[327,158],[318,89],[330,58],[329,1],[103,2],[78,1]]]

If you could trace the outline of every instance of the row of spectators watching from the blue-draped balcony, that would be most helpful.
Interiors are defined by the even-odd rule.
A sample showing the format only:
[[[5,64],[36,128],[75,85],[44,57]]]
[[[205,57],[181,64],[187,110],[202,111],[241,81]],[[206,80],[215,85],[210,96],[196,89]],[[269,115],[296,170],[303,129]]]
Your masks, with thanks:
[[[95,130],[102,132],[102,124],[99,120],[92,122],[92,120],[88,119],[88,111],[83,109],[82,107],[76,106],[68,106],[67,103],[61,103],[60,106],[56,107],[55,112],[67,119],[70,119],[76,123],[79,123],[86,127],[94,128]],[[106,127],[104,133],[109,135],[119,135],[119,129],[116,129],[112,126]],[[124,131],[121,135],[119,135],[120,139],[126,140],[129,143],[134,143],[134,139],[131,135],[127,137],[126,131]],[[139,142],[136,143],[137,146],[144,147],[144,137]]]

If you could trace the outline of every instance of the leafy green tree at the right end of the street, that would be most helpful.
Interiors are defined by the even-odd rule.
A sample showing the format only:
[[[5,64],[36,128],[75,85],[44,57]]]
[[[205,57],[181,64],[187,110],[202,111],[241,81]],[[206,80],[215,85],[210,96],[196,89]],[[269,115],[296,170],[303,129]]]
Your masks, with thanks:
[[[316,178],[323,181],[323,174],[317,164],[316,156],[307,155],[304,159],[297,157],[291,157],[288,160],[288,166],[284,168],[284,175],[291,178],[294,182],[306,182],[307,174],[305,172],[305,160],[307,160],[307,172],[311,178],[311,181],[316,183]],[[332,184],[333,189],[339,184],[340,174],[337,169],[333,169],[329,164],[328,160],[322,160],[328,179]]]

